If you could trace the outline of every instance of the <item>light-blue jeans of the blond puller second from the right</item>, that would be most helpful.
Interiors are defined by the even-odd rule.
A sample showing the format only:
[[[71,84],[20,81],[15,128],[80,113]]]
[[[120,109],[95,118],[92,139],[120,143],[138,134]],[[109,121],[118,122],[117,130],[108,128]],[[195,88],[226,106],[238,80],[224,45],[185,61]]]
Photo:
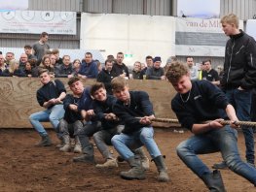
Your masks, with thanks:
[[[153,137],[153,127],[142,127],[131,134],[115,135],[111,139],[111,143],[125,160],[134,156],[131,149],[139,148],[142,145],[146,146],[151,158],[154,159],[162,154]]]

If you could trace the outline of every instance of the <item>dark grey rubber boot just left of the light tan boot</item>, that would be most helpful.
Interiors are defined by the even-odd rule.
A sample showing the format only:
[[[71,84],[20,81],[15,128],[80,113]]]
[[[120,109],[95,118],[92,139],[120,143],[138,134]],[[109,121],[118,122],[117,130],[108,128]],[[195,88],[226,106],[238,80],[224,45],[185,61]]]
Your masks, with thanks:
[[[83,154],[78,157],[74,157],[73,162],[94,163],[93,145],[89,144],[87,147],[83,148]]]

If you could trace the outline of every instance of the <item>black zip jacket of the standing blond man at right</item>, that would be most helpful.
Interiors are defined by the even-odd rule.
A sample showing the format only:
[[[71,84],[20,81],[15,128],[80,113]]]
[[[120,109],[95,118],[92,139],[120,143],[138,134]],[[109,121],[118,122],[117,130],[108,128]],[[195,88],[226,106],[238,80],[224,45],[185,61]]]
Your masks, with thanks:
[[[224,89],[256,86],[256,42],[241,30],[227,42],[221,86]]]

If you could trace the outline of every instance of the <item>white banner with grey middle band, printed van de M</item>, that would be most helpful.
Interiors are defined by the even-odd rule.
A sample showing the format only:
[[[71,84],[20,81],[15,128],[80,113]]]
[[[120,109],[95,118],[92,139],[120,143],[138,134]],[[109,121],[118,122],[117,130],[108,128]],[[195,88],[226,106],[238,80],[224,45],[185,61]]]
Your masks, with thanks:
[[[241,20],[239,26],[243,28]],[[228,38],[219,18],[176,18],[176,55],[222,57]]]

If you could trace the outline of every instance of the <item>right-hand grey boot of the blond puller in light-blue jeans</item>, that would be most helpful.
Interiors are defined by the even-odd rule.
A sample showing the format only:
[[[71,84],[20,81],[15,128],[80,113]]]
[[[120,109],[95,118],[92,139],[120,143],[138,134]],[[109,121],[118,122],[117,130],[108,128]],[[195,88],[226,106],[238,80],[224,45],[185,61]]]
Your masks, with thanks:
[[[164,157],[162,155],[157,156],[156,158],[153,159],[153,161],[155,162],[157,169],[159,171],[159,176],[157,177],[158,180],[161,182],[169,181],[169,176],[167,173],[167,169],[165,167]]]

